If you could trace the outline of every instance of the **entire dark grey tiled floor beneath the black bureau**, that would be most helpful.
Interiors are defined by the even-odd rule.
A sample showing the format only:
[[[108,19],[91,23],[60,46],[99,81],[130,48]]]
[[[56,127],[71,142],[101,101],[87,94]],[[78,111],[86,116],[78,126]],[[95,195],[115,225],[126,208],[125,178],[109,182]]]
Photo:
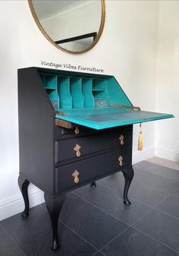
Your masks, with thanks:
[[[122,200],[119,172],[68,194],[59,220],[61,249],[51,251],[46,205],[0,222],[0,256],[179,255],[179,171],[141,162],[133,166],[132,204]]]

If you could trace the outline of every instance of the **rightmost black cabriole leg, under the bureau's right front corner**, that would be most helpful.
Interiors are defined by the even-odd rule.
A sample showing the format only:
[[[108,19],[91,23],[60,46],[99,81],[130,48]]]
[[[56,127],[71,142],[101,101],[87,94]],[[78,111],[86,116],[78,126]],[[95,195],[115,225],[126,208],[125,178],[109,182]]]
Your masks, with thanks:
[[[125,205],[130,205],[130,201],[127,197],[127,194],[128,194],[128,190],[129,190],[129,187],[130,187],[130,183],[132,182],[132,179],[133,179],[133,168],[129,168],[129,169],[125,169],[125,170],[122,170],[123,172],[123,175],[124,175],[124,179],[125,179],[125,185],[124,185],[124,204]]]

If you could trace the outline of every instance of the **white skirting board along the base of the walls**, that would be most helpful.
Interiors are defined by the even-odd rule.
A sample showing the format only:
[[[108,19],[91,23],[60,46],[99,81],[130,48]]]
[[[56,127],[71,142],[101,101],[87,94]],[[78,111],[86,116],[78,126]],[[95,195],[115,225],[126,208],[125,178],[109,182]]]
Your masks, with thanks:
[[[152,158],[152,156],[160,156],[170,160],[179,160],[179,154],[177,153],[172,153],[155,147],[149,147],[143,151],[133,151],[133,164]],[[30,194],[29,199],[30,207],[42,204],[44,202],[43,192],[37,189],[35,192],[33,191]],[[11,198],[6,198],[5,200],[0,201],[0,220],[4,220],[22,212],[23,210],[24,200],[20,193]]]

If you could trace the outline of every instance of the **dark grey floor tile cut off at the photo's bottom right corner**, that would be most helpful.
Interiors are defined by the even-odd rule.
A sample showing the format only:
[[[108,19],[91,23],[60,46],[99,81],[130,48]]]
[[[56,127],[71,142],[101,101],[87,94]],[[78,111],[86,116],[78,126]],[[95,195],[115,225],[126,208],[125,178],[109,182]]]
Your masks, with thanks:
[[[106,256],[177,256],[175,251],[133,228],[127,229],[102,252]]]

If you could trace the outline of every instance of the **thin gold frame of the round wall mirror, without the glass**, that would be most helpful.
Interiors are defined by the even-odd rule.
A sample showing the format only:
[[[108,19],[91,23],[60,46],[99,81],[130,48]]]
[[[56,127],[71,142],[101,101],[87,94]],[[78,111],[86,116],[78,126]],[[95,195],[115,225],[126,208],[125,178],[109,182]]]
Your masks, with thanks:
[[[102,35],[102,30],[105,26],[105,0],[101,0],[101,4],[102,4],[102,18],[101,18],[101,24],[100,24],[100,27],[99,27],[99,33],[97,34],[96,36],[96,39],[94,40],[94,42],[86,49],[84,49],[83,51],[80,51],[80,52],[72,52],[72,51],[69,51],[67,49],[64,49],[62,48],[61,46],[58,46],[53,40],[52,38],[50,38],[50,36],[46,33],[46,31],[43,29],[42,25],[40,24],[39,22],[39,18],[37,17],[36,15],[36,11],[33,7],[33,2],[32,0],[27,0],[28,3],[29,3],[29,6],[30,6],[30,11],[31,13],[33,14],[33,18],[34,20],[36,21],[36,24],[37,26],[39,27],[39,30],[42,32],[43,36],[46,37],[47,40],[49,40],[50,43],[52,43],[53,46],[55,46],[56,48],[60,49],[61,51],[63,52],[68,52],[68,53],[72,53],[72,54],[80,54],[80,53],[83,53],[83,52],[87,52],[89,51],[90,49],[92,49],[94,46],[96,46],[96,43],[98,43],[99,41],[99,38],[101,37]]]

